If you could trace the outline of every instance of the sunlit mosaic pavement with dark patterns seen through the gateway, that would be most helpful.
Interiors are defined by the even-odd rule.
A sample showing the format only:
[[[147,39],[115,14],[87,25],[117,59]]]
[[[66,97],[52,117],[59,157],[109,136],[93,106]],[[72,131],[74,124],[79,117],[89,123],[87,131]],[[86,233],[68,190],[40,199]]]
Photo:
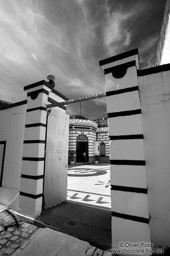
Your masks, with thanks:
[[[69,167],[67,187],[67,201],[111,209],[109,164]]]

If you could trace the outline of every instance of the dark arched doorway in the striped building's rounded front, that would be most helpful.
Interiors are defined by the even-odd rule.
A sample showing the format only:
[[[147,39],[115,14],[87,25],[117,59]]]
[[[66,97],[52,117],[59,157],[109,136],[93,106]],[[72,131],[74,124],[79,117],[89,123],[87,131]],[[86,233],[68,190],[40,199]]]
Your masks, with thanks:
[[[86,153],[86,158],[84,153]],[[78,135],[76,140],[76,162],[89,162],[88,138],[83,134]]]

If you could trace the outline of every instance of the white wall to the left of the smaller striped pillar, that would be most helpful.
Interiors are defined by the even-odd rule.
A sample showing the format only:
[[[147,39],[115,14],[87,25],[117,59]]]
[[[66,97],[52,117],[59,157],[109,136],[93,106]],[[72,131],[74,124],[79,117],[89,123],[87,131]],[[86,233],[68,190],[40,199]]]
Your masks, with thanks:
[[[2,187],[0,187],[2,204],[12,200],[16,191],[20,189],[25,118],[26,104],[0,110],[0,141],[7,142]]]

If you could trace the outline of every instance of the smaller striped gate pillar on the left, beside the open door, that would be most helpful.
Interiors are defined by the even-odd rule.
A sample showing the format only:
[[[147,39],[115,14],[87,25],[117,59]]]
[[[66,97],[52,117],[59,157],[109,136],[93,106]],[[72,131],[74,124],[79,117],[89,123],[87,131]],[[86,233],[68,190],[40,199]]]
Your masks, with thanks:
[[[35,218],[42,208],[46,107],[52,86],[43,80],[25,86],[24,90],[27,109],[18,212]]]

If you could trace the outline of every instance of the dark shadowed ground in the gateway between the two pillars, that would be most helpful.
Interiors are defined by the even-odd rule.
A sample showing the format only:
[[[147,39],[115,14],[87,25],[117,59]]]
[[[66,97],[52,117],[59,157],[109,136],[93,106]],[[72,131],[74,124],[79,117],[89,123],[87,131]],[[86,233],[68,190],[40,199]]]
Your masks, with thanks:
[[[102,250],[111,248],[111,211],[64,202],[44,211],[34,221],[87,241]]]

